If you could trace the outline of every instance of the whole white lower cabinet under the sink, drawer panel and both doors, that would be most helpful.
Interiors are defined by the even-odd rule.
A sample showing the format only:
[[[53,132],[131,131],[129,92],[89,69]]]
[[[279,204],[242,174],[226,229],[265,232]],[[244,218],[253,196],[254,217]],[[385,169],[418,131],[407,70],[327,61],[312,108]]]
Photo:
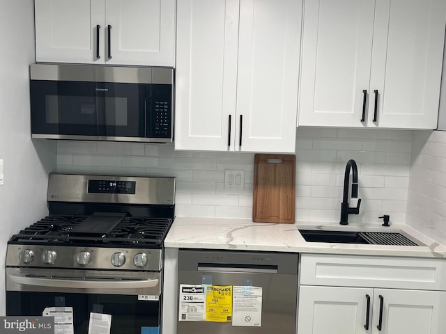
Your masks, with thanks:
[[[297,333],[446,333],[444,271],[445,260],[302,255]]]

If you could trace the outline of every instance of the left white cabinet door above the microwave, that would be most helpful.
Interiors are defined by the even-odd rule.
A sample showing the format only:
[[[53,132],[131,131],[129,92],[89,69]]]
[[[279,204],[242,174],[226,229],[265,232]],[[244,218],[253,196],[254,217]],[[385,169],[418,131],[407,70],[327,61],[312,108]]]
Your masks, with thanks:
[[[35,0],[34,3],[36,61],[104,63],[105,0]]]

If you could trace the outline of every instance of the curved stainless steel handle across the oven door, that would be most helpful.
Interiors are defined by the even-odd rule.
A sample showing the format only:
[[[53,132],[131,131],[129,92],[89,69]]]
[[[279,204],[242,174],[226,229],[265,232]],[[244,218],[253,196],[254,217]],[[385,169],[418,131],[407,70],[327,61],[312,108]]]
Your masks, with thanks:
[[[134,289],[156,287],[160,280],[61,280],[57,278],[36,278],[9,275],[10,280],[22,285],[39,287],[66,287],[75,289]]]

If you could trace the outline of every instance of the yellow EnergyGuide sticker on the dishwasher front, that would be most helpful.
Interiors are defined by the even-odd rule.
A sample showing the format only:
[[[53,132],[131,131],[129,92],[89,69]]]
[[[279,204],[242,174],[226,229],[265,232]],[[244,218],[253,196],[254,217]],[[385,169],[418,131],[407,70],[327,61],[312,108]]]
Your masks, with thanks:
[[[232,321],[232,285],[206,285],[206,321]]]

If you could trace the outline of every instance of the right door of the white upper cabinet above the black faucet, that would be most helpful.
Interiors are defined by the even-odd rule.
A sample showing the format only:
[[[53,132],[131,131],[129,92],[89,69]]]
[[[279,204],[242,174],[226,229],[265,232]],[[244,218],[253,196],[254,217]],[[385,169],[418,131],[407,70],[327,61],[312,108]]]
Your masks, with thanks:
[[[436,129],[445,22],[444,0],[376,1],[368,126]]]

